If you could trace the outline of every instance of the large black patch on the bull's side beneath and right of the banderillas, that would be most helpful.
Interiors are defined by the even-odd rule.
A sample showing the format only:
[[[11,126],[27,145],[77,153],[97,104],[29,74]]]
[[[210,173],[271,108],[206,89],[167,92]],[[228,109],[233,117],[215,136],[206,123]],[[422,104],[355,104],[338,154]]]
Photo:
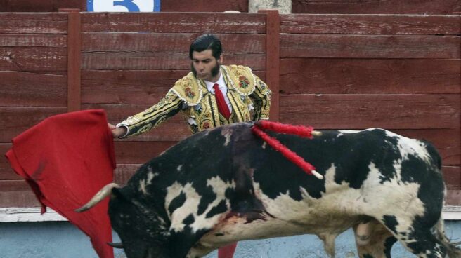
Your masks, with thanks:
[[[381,172],[382,182],[390,181],[396,174],[394,161],[401,158],[396,147],[396,137],[389,137],[382,129],[344,135],[339,135],[337,131],[323,131],[321,137],[314,137],[312,140],[293,135],[271,135],[311,163],[322,175],[334,166],[335,182],[346,182],[353,189],[360,189],[367,179],[370,163],[375,164]],[[325,192],[325,180],[306,175],[301,168],[271,147],[267,146],[263,150],[262,140],[256,141],[259,142],[257,147],[247,147],[247,159],[252,161],[250,167],[257,168],[254,181],[261,183],[264,194],[270,198],[289,194],[291,198],[299,201],[302,199],[299,186],[303,186],[309,196],[322,196]],[[267,175],[268,171],[277,172]]]

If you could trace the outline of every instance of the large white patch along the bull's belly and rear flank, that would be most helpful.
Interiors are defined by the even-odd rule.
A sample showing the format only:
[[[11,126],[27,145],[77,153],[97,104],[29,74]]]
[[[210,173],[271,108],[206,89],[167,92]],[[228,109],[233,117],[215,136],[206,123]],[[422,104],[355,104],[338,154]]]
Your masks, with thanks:
[[[396,177],[382,183],[382,174],[375,164],[370,163],[370,173],[361,189],[353,189],[347,182],[335,182],[336,168],[331,164],[325,174],[325,193],[321,198],[313,198],[300,186],[300,201],[281,193],[272,199],[264,194],[259,183],[254,183],[254,194],[261,199],[271,216],[247,223],[246,219],[234,217],[221,224],[215,231],[200,240],[204,246],[220,245],[226,241],[248,238],[315,233],[336,236],[337,233],[358,223],[361,215],[381,218],[395,215],[399,225],[397,230],[408,231],[408,224],[416,216],[424,215],[424,204],[417,198],[420,185],[399,182],[400,169],[396,165]],[[325,226],[327,225],[327,226]],[[222,233],[216,237],[214,233]],[[329,237],[330,238],[330,237]],[[330,241],[331,242],[331,241]],[[329,243],[327,248],[331,249]]]

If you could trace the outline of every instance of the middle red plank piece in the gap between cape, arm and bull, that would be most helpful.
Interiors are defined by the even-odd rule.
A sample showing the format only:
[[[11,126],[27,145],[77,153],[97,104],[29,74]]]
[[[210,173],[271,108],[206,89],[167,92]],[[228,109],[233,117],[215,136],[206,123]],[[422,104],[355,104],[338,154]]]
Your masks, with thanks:
[[[146,163],[167,150],[176,142],[115,142],[117,163]]]

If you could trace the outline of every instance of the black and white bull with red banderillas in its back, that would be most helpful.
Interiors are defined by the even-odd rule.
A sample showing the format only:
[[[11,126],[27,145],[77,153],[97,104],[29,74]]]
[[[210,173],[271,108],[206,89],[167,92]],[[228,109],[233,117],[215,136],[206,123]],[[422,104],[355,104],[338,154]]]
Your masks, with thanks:
[[[461,257],[443,233],[445,186],[431,144],[382,129],[313,140],[270,133],[324,175],[317,179],[252,126],[192,135],[84,209],[111,194],[110,220],[129,258],[202,257],[238,240],[305,233],[334,257],[335,237],[351,227],[363,258],[390,257],[396,240],[418,257]]]

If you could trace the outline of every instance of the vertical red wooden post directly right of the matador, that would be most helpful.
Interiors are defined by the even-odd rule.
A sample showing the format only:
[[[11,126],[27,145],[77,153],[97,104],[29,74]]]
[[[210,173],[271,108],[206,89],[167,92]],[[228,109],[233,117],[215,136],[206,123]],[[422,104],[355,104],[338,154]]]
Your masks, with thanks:
[[[280,117],[280,16],[277,10],[260,10],[266,13],[266,83],[272,90],[269,117],[278,121]]]

